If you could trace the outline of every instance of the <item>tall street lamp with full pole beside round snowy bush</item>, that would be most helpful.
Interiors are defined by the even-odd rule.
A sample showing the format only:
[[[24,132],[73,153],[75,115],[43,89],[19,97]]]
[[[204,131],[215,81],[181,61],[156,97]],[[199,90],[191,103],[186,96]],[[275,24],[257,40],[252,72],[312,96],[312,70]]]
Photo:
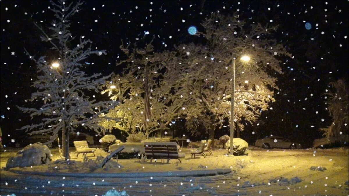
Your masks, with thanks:
[[[242,56],[240,60],[244,62],[250,61],[250,56]],[[234,139],[234,99],[235,99],[235,67],[236,60],[233,58],[233,78],[231,80],[231,110],[230,110],[230,149],[229,154],[233,155],[233,139]],[[246,81],[245,81],[246,83]],[[248,81],[247,81],[248,83]]]

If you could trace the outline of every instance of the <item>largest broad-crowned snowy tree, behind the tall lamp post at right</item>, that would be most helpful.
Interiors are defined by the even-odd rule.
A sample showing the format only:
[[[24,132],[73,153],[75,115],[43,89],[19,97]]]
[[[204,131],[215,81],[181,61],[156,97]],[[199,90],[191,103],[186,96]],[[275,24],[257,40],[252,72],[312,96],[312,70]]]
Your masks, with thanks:
[[[181,101],[186,126],[197,133],[201,125],[213,139],[215,128],[228,125],[231,107],[232,59],[236,58],[235,125],[241,130],[251,125],[273,98],[280,55],[290,57],[272,37],[276,27],[245,23],[238,15],[212,14],[201,23],[204,45],[180,45],[169,53],[166,81],[172,87],[173,101]],[[248,63],[240,57],[250,56]],[[172,56],[172,57],[171,57]],[[244,123],[243,123],[244,122]],[[245,124],[246,125],[246,124]]]

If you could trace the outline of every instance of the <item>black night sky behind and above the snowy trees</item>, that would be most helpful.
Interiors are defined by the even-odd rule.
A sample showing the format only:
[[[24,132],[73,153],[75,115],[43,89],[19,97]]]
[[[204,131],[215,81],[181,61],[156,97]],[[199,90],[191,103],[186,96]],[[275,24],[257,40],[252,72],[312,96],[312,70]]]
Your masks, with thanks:
[[[24,48],[36,56],[52,55],[49,45],[40,41],[34,26],[50,25],[53,14],[49,1],[9,1],[1,5],[1,128],[3,136],[16,137],[15,129],[30,123],[16,105],[25,105],[34,91],[35,65]],[[149,31],[155,36],[156,50],[171,50],[180,43],[200,43],[187,29],[212,12],[233,14],[262,24],[278,24],[275,38],[294,55],[281,65],[276,102],[261,116],[259,127],[247,128],[242,138],[249,141],[270,134],[282,135],[300,143],[321,137],[319,128],[331,123],[323,93],[328,82],[348,78],[348,7],[343,1],[84,1],[72,20],[73,35],[91,39],[94,47],[107,55],[88,59],[87,72],[118,73],[115,64],[121,39],[135,42]],[[305,28],[305,23],[311,29]],[[14,54],[13,54],[14,52]],[[92,65],[92,63],[94,63]],[[324,119],[324,121],[322,121]],[[255,134],[251,134],[255,131]],[[346,130],[348,131],[348,130]],[[11,135],[12,134],[12,135]]]

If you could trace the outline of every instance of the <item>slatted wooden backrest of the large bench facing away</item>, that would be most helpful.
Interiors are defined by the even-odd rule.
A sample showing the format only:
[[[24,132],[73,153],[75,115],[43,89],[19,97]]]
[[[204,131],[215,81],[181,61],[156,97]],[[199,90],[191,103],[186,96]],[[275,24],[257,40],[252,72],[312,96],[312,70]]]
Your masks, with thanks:
[[[176,156],[178,148],[176,142],[144,142],[146,156]]]

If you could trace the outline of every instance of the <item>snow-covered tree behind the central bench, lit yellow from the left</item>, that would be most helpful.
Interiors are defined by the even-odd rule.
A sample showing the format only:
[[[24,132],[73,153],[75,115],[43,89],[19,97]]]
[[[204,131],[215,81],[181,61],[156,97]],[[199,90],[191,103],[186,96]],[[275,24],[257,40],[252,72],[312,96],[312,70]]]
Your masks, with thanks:
[[[155,53],[153,40],[144,48],[130,44],[120,48],[126,59],[119,64],[126,63],[122,74],[113,77],[113,82],[104,92],[109,92],[112,100],[119,100],[116,106],[106,116],[118,118],[119,122],[104,120],[100,125],[105,128],[118,128],[128,135],[141,131],[147,138],[154,131],[167,130],[171,120],[177,115],[178,107],[169,104],[164,91],[170,89],[164,86],[165,67],[162,53]]]

